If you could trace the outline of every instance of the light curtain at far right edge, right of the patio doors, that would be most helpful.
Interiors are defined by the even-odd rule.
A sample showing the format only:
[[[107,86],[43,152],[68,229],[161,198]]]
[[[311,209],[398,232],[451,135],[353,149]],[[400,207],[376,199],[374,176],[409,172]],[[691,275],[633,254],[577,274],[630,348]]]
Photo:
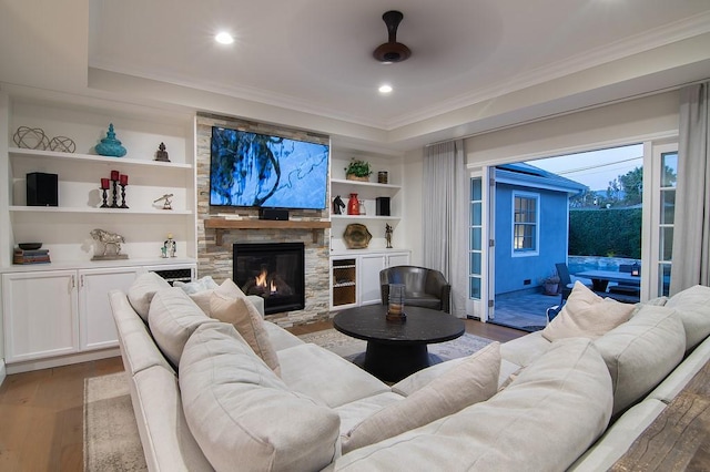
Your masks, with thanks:
[[[670,293],[710,285],[710,82],[681,91]]]

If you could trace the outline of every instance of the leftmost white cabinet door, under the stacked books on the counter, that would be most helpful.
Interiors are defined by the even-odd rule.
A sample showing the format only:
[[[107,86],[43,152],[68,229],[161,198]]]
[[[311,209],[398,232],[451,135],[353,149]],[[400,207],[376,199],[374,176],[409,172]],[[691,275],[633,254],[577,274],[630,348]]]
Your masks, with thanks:
[[[78,351],[75,274],[48,270],[2,276],[8,363]]]

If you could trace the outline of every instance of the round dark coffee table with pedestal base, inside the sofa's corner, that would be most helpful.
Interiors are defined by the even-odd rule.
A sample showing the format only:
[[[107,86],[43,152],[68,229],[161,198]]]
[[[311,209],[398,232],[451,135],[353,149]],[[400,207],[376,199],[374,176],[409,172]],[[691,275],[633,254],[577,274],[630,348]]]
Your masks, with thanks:
[[[429,308],[405,307],[404,322],[387,321],[387,306],[367,305],[343,310],[333,327],[367,341],[363,358],[356,359],[381,380],[397,382],[440,359],[429,356],[427,345],[449,341],[466,331],[464,321]]]

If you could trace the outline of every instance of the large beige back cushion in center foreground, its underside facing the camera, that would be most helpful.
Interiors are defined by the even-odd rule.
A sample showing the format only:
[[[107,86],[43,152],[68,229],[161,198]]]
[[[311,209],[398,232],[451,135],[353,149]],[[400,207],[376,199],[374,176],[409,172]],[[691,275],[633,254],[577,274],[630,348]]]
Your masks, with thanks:
[[[338,458],[343,471],[564,471],[611,415],[590,340],[562,339],[488,401]]]

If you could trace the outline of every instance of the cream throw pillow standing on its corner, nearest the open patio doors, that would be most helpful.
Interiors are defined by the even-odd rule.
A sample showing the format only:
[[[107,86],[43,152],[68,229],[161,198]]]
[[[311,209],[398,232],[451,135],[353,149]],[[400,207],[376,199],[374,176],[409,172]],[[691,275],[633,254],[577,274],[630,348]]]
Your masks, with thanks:
[[[633,305],[601,298],[579,281],[575,283],[562,310],[542,329],[548,341],[564,338],[597,339],[625,321]]]

